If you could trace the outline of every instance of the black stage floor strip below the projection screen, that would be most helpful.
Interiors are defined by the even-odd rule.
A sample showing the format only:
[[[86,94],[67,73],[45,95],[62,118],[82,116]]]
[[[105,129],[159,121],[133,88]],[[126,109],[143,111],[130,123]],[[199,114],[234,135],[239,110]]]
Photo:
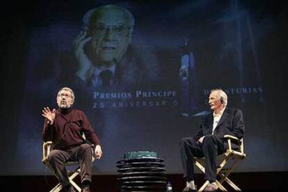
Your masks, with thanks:
[[[118,175],[93,175],[90,191],[93,192],[116,192]],[[287,191],[285,178],[288,172],[263,172],[263,173],[231,173],[230,179],[239,186],[242,191]],[[195,183],[200,187],[204,182],[203,174],[196,174]],[[34,176],[0,176],[1,192],[6,191],[29,191],[45,192],[52,189],[56,184],[56,177],[52,175]],[[76,180],[79,182],[79,179]],[[182,175],[168,175],[168,181],[173,185],[173,192],[180,192],[184,188]],[[226,186],[225,186],[226,187]],[[227,187],[228,191],[232,191]]]

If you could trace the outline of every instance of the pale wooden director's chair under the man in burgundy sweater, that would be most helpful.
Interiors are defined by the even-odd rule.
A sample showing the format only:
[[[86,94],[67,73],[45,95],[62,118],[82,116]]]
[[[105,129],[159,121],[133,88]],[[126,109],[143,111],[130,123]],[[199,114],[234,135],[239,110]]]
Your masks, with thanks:
[[[51,151],[51,146],[52,146],[52,142],[51,141],[47,141],[45,143],[43,143],[43,156],[42,156],[42,163],[51,171],[51,173],[53,173],[56,177],[57,175],[54,173],[53,168],[51,168],[50,164],[49,164],[49,160],[48,160],[48,155]],[[90,145],[91,146],[91,150],[94,154],[94,145]],[[95,157],[92,155],[92,162],[95,161]],[[73,167],[77,167],[77,168],[73,168]],[[77,177],[77,175],[80,174],[80,166],[79,166],[79,162],[77,161],[69,161],[67,163],[65,163],[65,167],[71,167],[72,170],[67,171],[67,175],[68,175],[68,179],[69,182],[72,186],[74,186],[74,189],[76,189],[77,191],[81,192],[81,188],[77,185],[76,182],[73,181],[73,179],[75,177]],[[58,178],[58,177],[57,177]],[[60,183],[58,183],[53,189],[51,189],[50,192],[58,192],[61,191],[62,189],[62,185]]]

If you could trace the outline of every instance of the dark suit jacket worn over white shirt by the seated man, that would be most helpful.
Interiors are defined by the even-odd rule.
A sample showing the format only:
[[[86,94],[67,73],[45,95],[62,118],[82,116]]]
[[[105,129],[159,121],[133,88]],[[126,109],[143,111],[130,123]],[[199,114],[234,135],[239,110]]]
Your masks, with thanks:
[[[212,134],[213,120],[213,113],[209,113],[202,119],[200,131],[198,131],[198,133],[193,137],[195,141],[198,141],[198,139],[202,136]],[[245,125],[242,111],[240,109],[226,108],[220,121],[218,122],[214,134],[216,134],[221,139],[224,139],[223,136],[226,134],[236,136],[237,138],[242,138],[244,129]]]

